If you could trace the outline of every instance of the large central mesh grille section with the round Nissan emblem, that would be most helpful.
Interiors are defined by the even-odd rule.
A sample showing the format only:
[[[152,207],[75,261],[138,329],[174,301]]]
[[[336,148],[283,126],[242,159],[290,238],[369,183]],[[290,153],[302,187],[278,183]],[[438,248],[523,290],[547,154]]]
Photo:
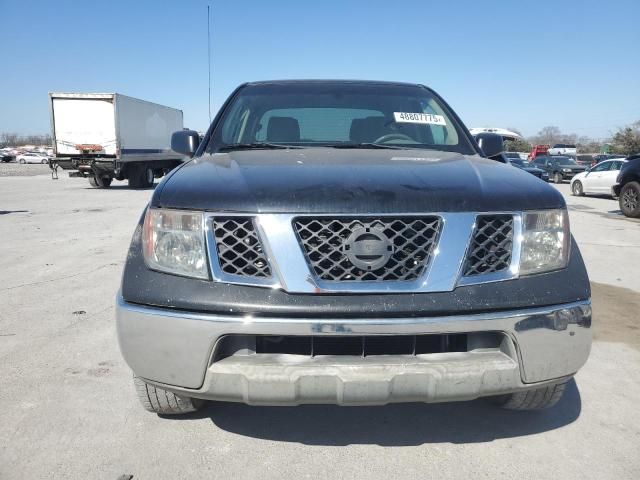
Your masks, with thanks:
[[[307,262],[321,280],[408,281],[420,277],[429,264],[441,219],[298,217],[293,224]]]

